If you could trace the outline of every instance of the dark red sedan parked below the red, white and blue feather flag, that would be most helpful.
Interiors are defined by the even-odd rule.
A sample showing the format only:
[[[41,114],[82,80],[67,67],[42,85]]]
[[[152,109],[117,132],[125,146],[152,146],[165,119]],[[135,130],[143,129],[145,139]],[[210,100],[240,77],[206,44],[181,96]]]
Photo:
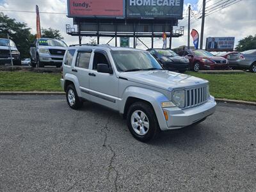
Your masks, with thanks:
[[[208,51],[200,49],[183,50],[179,52],[179,55],[189,59],[190,68],[195,72],[205,69],[229,69],[228,60],[220,56],[214,56]]]

